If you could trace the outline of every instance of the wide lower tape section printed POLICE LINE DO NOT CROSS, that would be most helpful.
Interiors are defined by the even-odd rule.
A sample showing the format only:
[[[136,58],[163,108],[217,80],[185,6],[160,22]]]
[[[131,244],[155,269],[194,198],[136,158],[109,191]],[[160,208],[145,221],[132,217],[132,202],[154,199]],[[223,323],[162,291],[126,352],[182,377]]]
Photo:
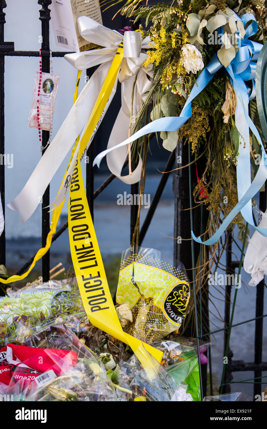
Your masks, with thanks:
[[[156,366],[144,348],[161,362],[162,352],[123,332],[109,291],[101,253],[81,175],[81,151],[75,163],[69,190],[69,244],[72,263],[84,309],[90,322],[132,348],[150,375]],[[152,371],[153,369],[153,371]]]

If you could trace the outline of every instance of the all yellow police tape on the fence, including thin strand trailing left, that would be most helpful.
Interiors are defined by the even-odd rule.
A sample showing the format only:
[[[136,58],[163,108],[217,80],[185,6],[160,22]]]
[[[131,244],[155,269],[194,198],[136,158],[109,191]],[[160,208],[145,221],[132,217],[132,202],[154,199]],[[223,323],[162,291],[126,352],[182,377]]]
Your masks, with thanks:
[[[161,362],[162,352],[148,344],[142,343],[132,335],[123,332],[109,291],[105,269],[99,251],[96,233],[94,230],[81,175],[81,155],[83,154],[87,146],[87,142],[93,134],[93,130],[95,129],[105,108],[105,105],[108,102],[108,98],[110,97],[112,88],[114,87],[115,81],[117,79],[117,73],[119,72],[122,59],[123,43],[121,43],[117,49],[99,96],[96,100],[93,112],[88,120],[87,128],[81,138],[78,157],[76,159],[75,169],[72,174],[69,191],[69,242],[78,287],[81,293],[81,298],[86,314],[89,317],[90,322],[99,329],[102,329],[120,341],[128,344],[138,359],[141,361],[144,369],[147,372],[147,375],[150,378],[153,378],[153,375],[157,372],[157,366],[155,365],[155,362],[151,360],[151,356],[147,353],[147,351],[156,359],[158,363]],[[78,72],[77,76],[74,102],[78,97],[78,84],[80,76],[81,71]],[[72,156],[69,164],[78,145],[78,141],[79,137],[76,139],[75,146],[72,149]],[[66,169],[66,172],[68,168]],[[66,172],[61,186],[64,183]],[[39,251],[36,253],[33,263],[27,272],[22,275],[12,275],[6,280],[1,279],[3,284],[22,280],[27,277],[27,275],[35,266],[36,261],[38,261],[48,251],[51,245],[52,236],[56,232],[57,222],[60,217],[63,204],[64,201],[54,209],[50,225],[51,230],[47,236],[46,246],[39,249]]]

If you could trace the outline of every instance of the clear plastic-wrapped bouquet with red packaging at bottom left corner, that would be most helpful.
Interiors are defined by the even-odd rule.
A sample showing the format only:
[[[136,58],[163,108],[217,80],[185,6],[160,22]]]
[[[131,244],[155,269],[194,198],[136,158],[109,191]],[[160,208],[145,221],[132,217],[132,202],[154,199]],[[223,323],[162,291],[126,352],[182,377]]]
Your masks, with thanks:
[[[117,400],[101,360],[63,325],[7,344],[0,355],[0,390],[15,400]]]

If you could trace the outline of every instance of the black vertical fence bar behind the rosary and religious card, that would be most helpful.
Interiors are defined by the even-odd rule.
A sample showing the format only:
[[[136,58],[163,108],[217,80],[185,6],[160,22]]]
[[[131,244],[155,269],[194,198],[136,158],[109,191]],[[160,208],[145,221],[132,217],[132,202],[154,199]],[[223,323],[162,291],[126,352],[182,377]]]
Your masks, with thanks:
[[[49,51],[49,21],[50,21],[50,9],[48,6],[52,3],[52,0],[38,0],[38,4],[42,6],[40,9],[40,20],[42,22],[42,51]],[[42,57],[42,71],[44,73],[50,72],[50,59],[49,56]],[[49,139],[49,131],[42,131],[42,146],[45,147]],[[44,149],[42,155],[45,153]],[[45,190],[42,198],[42,247],[45,247],[46,238],[50,230],[50,213],[49,208],[45,208],[50,204],[50,185]],[[48,281],[50,269],[50,251],[42,257],[42,278],[43,282]]]

